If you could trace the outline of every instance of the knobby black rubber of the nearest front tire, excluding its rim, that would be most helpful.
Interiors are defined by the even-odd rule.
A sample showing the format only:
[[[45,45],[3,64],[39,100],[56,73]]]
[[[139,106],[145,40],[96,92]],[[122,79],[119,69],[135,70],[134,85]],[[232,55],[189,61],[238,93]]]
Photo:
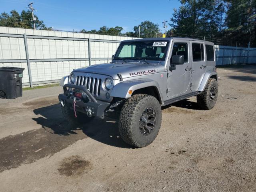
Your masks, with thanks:
[[[138,148],[144,147],[152,143],[154,140],[150,141],[147,145],[140,144],[134,140],[134,135],[132,134],[132,129],[134,127],[134,121],[133,119],[136,116],[140,116],[140,106],[142,105],[143,102],[146,101],[153,101],[159,104],[158,100],[151,95],[146,95],[146,94],[136,94],[132,97],[130,97],[124,105],[122,106],[120,116],[119,116],[119,134],[121,138],[124,140],[124,142],[136,146]],[[159,104],[160,107],[160,104]],[[162,122],[162,114],[160,114],[160,125]],[[157,130],[159,132],[159,129]],[[157,134],[158,134],[157,132]],[[157,136],[156,134],[156,136]],[[156,138],[154,137],[154,139]]]

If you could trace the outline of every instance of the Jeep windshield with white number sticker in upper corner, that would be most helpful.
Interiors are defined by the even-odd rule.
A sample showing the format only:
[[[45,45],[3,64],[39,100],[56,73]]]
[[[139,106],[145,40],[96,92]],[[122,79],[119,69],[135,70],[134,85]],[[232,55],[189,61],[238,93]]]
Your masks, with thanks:
[[[118,47],[115,60],[156,60],[164,61],[168,49],[167,40],[122,42]]]

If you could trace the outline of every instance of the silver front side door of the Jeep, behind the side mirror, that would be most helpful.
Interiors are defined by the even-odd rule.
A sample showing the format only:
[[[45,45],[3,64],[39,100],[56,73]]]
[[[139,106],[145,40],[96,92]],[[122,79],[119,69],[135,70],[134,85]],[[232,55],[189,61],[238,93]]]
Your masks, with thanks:
[[[176,69],[172,71],[170,71],[168,68],[167,96],[170,98],[185,94],[189,90],[191,77],[191,61],[189,57],[190,52],[188,50],[189,47],[189,41],[174,40],[172,43],[172,55],[170,62],[172,62],[172,56],[184,55],[184,64],[176,65]],[[170,63],[168,66],[170,66]]]

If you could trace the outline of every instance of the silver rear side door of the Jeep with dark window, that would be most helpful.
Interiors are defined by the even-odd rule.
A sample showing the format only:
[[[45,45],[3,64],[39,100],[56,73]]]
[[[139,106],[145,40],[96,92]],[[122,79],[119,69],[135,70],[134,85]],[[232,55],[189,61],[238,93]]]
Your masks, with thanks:
[[[206,72],[206,59],[204,42],[191,42],[192,50],[192,73],[190,89],[196,91]]]

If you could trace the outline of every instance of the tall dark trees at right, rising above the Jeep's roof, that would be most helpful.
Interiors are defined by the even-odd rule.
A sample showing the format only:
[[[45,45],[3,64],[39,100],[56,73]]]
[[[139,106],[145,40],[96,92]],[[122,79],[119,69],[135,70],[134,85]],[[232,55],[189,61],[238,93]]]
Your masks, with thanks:
[[[225,45],[256,46],[256,0],[180,0],[168,35],[222,39]]]

